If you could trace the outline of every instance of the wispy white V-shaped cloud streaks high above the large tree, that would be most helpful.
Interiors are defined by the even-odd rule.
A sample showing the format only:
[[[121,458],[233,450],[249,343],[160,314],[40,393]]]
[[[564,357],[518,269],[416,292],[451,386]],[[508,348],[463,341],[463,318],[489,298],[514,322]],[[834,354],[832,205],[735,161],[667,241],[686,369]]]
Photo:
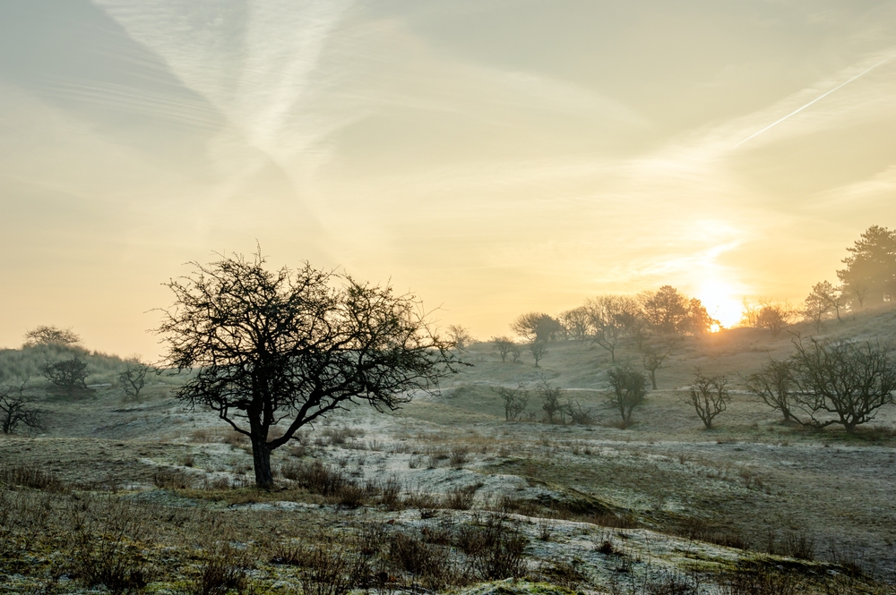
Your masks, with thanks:
[[[97,4],[226,118],[211,149],[221,171],[246,178],[263,166],[243,146],[291,167],[319,138],[320,124],[296,107],[349,0]]]

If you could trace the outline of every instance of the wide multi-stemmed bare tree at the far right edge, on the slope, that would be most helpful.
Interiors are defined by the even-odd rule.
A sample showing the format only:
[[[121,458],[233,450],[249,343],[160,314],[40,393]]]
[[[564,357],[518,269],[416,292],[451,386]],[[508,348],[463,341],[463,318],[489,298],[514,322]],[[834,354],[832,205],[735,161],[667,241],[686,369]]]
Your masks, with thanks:
[[[874,419],[892,404],[896,363],[890,344],[794,339],[791,357],[797,385],[794,402],[807,420],[802,425],[824,428],[841,424],[849,433]]]

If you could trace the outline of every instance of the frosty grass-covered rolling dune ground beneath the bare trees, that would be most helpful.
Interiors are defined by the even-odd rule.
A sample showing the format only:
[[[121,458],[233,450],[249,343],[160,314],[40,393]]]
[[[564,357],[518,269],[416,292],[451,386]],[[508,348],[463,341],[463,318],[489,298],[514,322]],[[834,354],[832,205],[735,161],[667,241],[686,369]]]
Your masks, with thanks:
[[[896,312],[831,321],[823,332],[883,343],[896,334]],[[696,595],[696,582],[731,595],[892,592],[896,407],[855,435],[783,423],[742,377],[770,355],[786,357],[792,337],[753,328],[685,337],[627,429],[604,405],[612,363],[599,347],[556,342],[535,368],[525,353],[503,362],[492,344],[473,344],[473,366],[441,395],[392,415],[349,407],[303,430],[274,452],[272,492],[251,487],[244,438],[172,398],[188,376],[155,376],[131,401],[116,387],[120,358],[5,350],[6,382],[78,355],[90,384],[108,386],[70,399],[34,381],[47,429],[0,438],[0,590],[120,580],[132,591],[202,592],[202,577],[220,570],[234,581],[220,592],[341,595],[326,591],[333,581],[505,592],[488,582],[504,576],[520,579],[521,592]],[[640,365],[633,344],[617,359]],[[711,430],[685,403],[697,366],[733,387]],[[593,423],[542,422],[534,393],[532,421],[505,421],[493,388],[540,382],[562,387]],[[487,570],[487,559],[518,547],[512,565]],[[102,552],[125,574],[103,575]]]

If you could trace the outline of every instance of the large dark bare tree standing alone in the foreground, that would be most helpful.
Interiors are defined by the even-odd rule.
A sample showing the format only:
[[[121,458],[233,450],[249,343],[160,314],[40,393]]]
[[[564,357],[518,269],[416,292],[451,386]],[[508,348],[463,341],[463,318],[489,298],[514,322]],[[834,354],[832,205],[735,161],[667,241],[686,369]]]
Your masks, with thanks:
[[[166,364],[198,369],[177,397],[249,438],[259,488],[271,489],[271,451],[298,429],[349,404],[395,410],[460,365],[419,302],[388,286],[307,263],[271,271],[260,251],[192,264],[192,276],[166,284]]]

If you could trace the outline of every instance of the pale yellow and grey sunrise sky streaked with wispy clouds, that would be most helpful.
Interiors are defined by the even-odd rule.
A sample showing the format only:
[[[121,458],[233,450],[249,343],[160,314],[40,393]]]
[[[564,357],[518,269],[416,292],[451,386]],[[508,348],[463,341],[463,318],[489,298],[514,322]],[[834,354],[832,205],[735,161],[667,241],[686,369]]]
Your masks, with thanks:
[[[443,325],[674,285],[728,325],[896,225],[896,4],[0,1],[0,346],[141,354],[190,261]]]

